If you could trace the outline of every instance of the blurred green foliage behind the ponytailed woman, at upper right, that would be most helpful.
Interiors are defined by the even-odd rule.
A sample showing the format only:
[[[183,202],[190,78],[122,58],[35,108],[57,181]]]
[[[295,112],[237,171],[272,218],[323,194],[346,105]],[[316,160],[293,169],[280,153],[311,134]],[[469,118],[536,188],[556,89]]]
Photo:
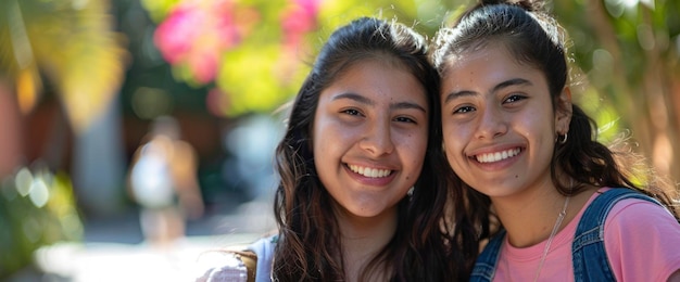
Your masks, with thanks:
[[[614,134],[627,131],[659,172],[680,179],[680,2],[552,2],[584,74],[576,101]]]

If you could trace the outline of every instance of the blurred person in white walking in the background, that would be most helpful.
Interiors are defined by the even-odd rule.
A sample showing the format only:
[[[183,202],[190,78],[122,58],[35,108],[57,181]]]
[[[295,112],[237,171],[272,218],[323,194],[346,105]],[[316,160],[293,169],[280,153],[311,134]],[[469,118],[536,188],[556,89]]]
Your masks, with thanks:
[[[162,247],[184,238],[186,220],[201,217],[204,209],[197,155],[180,134],[175,118],[156,118],[129,171],[128,192],[141,207],[144,239]]]

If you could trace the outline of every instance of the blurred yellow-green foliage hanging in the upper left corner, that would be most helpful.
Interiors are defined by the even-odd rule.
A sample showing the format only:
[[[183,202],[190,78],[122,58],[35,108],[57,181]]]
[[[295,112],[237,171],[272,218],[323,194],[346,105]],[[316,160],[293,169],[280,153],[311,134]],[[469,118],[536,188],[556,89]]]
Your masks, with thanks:
[[[109,104],[123,77],[126,52],[106,9],[106,1],[0,1],[0,74],[23,74],[36,92],[47,78],[77,131]],[[21,86],[20,98],[35,94]]]

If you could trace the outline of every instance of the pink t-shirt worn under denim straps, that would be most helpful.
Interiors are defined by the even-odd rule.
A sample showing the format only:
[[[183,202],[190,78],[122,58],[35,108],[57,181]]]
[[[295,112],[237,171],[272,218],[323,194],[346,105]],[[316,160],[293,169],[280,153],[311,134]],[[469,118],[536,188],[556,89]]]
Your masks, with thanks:
[[[539,281],[574,281],[571,242],[585,206],[553,239]],[[680,269],[680,225],[654,203],[639,198],[618,202],[607,215],[604,234],[617,281],[666,281]],[[517,248],[506,236],[493,281],[533,281],[545,243]]]

